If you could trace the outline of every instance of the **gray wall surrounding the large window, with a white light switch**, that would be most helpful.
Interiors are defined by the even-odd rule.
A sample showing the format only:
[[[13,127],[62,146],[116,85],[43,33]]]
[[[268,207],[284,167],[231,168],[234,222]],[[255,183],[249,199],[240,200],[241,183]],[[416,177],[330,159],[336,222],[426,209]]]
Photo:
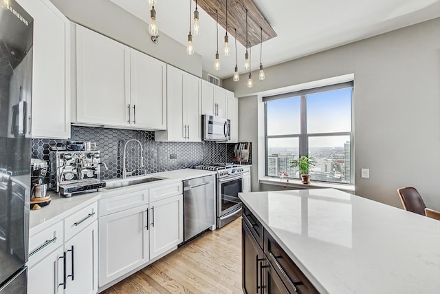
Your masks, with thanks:
[[[242,97],[354,73],[355,193],[401,207],[397,188],[412,186],[428,207],[440,210],[439,28],[440,19],[411,25],[268,67],[265,81],[256,79],[252,89],[241,82],[245,76],[223,87]],[[255,96],[240,98],[239,122],[261,123],[263,116],[243,109],[260,104]],[[261,132],[249,134],[253,143]],[[261,172],[256,160],[252,164]],[[370,178],[360,178],[361,168],[370,169]]]

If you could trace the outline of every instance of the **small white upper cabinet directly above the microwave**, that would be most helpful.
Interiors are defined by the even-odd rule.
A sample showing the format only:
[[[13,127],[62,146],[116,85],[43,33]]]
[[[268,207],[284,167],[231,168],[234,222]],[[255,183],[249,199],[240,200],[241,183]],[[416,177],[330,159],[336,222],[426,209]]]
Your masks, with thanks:
[[[234,96],[234,94],[204,80],[202,81],[201,91],[202,114],[226,117],[226,101],[228,96]]]

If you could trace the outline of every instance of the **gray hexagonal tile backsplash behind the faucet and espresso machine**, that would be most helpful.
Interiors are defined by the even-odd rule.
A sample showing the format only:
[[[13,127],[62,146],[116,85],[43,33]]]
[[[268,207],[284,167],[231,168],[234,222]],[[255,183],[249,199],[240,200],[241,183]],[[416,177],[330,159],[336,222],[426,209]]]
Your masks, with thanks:
[[[101,166],[101,178],[111,179],[122,176],[122,155],[127,140],[136,139],[142,144],[144,167],[140,168],[140,145],[131,141],[126,146],[126,169],[137,174],[147,174],[190,168],[201,163],[232,162],[233,144],[202,142],[155,142],[154,132],[131,129],[107,129],[102,127],[72,126],[71,139],[96,142],[100,150],[100,160],[108,170]],[[32,158],[50,160],[50,144],[62,143],[58,139],[32,139]],[[229,147],[228,147],[229,145]],[[170,159],[175,154],[176,159]],[[142,171],[141,171],[142,170]]]

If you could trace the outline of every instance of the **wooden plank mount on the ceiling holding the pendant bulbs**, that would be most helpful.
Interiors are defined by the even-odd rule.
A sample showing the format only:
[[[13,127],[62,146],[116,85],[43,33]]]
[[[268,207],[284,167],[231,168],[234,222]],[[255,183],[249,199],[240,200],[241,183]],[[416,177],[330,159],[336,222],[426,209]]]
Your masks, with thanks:
[[[225,0],[197,0],[197,6],[205,10],[214,21],[216,20],[217,10],[219,12],[219,25],[224,29],[226,28]],[[276,36],[276,32],[261,14],[259,8],[256,7],[254,1],[228,0],[228,34],[230,36],[235,37],[234,29],[236,29],[236,40],[246,46],[246,10],[248,10],[248,42],[252,46],[261,43],[260,28],[263,28],[263,42]]]

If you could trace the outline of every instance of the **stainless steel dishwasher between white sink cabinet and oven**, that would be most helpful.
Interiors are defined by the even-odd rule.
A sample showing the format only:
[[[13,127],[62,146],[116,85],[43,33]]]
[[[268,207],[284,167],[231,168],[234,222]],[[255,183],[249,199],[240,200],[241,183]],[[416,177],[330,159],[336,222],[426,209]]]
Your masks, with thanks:
[[[184,180],[184,242],[215,224],[215,176]]]

